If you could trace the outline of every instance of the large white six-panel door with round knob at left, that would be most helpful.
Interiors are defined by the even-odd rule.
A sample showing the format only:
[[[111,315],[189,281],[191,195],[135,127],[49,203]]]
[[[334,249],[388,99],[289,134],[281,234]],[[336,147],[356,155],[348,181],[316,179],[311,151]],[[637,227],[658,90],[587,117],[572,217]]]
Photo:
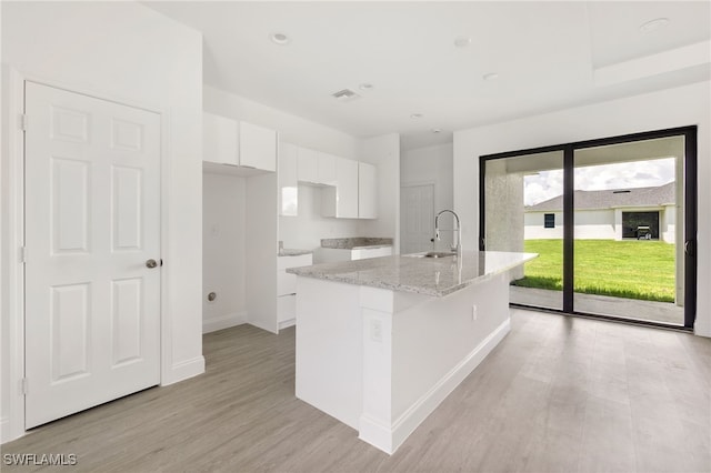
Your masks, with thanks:
[[[160,115],[32,82],[26,114],[30,429],[160,381]]]

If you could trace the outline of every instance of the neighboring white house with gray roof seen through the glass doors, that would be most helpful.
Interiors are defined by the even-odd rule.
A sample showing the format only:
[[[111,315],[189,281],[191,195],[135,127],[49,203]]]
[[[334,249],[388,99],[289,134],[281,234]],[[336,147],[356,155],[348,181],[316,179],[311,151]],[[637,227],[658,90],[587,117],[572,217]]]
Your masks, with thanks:
[[[675,241],[675,182],[653,188],[575,191],[575,238]],[[524,209],[524,239],[563,238],[562,195]]]

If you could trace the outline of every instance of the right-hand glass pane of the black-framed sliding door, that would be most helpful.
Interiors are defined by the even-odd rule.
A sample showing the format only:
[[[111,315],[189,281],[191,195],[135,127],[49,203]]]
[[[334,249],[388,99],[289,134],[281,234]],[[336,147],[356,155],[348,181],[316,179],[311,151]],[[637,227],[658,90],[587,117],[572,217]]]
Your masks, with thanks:
[[[573,306],[684,324],[683,137],[574,151]]]

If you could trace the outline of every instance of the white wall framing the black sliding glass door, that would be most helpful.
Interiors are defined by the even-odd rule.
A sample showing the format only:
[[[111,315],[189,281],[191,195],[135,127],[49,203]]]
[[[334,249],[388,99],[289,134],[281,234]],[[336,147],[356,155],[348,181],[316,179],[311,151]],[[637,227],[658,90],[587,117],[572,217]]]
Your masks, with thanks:
[[[694,331],[711,336],[711,83],[578,107],[454,132],[454,208],[464,244],[479,234],[479,157],[648,130],[699,127],[698,314]]]

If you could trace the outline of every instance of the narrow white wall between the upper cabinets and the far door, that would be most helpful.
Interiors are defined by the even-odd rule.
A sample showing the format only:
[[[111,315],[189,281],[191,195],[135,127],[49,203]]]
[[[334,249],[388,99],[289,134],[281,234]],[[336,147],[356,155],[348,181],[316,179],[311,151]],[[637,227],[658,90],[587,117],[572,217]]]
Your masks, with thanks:
[[[378,168],[378,219],[361,220],[360,234],[393,239],[392,252],[400,253],[400,134],[363,140],[361,161]]]

